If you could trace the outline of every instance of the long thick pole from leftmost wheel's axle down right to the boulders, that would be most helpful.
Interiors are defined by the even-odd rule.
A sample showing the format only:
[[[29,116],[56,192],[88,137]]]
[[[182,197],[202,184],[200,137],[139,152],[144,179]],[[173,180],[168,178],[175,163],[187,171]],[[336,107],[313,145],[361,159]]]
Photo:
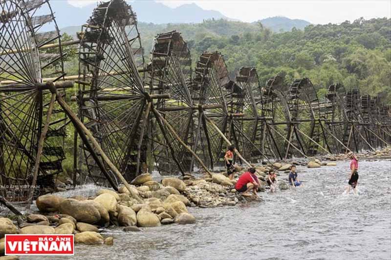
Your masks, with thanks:
[[[125,185],[125,187],[128,189],[132,197],[138,201],[142,201],[141,198],[133,191],[133,189],[130,187],[129,183],[125,180],[125,178],[122,176],[120,171],[115,167],[115,165],[110,161],[109,157],[105,154],[105,152],[102,150],[101,146],[95,140],[91,132],[87,129],[87,127],[80,121],[80,119],[73,113],[72,109],[68,106],[68,104],[63,100],[58,90],[54,87],[53,82],[48,82],[48,85],[51,85],[50,91],[52,93],[55,93],[57,95],[57,101],[61,105],[61,107],[64,109],[64,112],[68,115],[69,119],[72,121],[72,123],[76,126],[76,129],[82,130],[88,137],[88,139],[92,142],[92,145],[94,148],[99,152],[104,162],[109,166],[109,168],[117,175],[117,177],[121,180],[121,182]]]

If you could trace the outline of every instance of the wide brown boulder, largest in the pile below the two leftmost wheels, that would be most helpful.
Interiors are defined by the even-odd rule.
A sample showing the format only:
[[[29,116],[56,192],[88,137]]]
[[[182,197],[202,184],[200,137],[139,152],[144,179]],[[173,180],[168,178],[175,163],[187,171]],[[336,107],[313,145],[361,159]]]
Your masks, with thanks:
[[[72,216],[77,221],[97,223],[101,220],[101,214],[92,202],[94,201],[65,199],[60,203],[60,212]]]

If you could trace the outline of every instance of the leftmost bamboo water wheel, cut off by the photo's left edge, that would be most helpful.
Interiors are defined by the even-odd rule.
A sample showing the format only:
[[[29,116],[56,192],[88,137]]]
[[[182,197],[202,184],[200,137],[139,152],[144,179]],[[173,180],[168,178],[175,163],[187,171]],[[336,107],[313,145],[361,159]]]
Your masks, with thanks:
[[[48,1],[0,1],[2,185],[51,186],[53,178],[63,171],[67,120],[58,105],[49,109],[52,95],[43,78],[62,80],[65,56]],[[65,89],[60,92],[65,95]],[[52,116],[41,155],[39,140],[48,113]],[[35,171],[38,180],[32,181]]]

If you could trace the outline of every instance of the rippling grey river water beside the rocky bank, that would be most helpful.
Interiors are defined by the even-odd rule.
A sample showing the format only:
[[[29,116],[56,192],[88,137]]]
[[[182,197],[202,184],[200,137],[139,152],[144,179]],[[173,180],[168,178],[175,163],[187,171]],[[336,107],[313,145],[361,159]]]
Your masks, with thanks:
[[[390,160],[361,161],[359,195],[343,194],[346,161],[299,166],[301,187],[260,193],[263,202],[190,208],[192,225],[110,228],[104,236],[114,237],[113,246],[76,245],[64,259],[391,259],[390,166]]]

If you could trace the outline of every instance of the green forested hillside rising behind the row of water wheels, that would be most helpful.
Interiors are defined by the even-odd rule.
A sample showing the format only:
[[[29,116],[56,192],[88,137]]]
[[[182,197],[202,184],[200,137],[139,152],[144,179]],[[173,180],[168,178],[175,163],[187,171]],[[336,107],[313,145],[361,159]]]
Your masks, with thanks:
[[[258,23],[205,20],[195,24],[139,23],[148,61],[157,33],[177,30],[187,40],[193,63],[204,51],[220,51],[234,77],[241,66],[255,66],[261,84],[277,74],[289,84],[308,77],[320,96],[333,82],[382,93],[391,104],[391,19],[357,19],[308,25],[304,31],[273,33]],[[77,71],[72,62],[69,72]]]

